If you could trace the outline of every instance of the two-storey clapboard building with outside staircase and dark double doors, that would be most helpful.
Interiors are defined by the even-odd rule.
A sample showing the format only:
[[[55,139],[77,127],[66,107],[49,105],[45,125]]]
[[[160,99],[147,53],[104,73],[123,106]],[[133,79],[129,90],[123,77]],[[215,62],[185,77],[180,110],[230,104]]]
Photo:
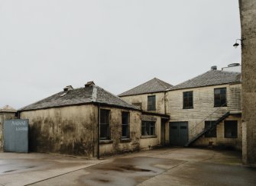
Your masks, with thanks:
[[[241,73],[212,68],[167,92],[170,144],[241,149]]]

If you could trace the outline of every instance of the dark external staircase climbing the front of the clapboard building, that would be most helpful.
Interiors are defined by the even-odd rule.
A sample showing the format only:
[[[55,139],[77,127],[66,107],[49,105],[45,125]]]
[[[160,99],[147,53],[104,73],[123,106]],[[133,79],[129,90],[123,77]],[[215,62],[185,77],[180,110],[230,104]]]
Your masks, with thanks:
[[[218,111],[218,110],[216,110]],[[212,114],[214,114],[216,111],[214,111]],[[210,115],[212,115],[210,114]],[[218,120],[215,121],[215,123],[213,123],[210,127],[202,127],[202,123],[207,120],[206,117],[204,120],[202,120],[201,122],[197,123],[195,127],[193,127],[192,130],[190,130],[190,135],[192,136],[191,139],[185,144],[185,146],[190,146],[193,142],[196,141],[196,139],[199,139],[200,136],[203,136],[205,133],[209,132],[210,130],[212,130],[214,127],[216,127],[219,123],[222,122],[222,120],[225,120],[226,117],[228,117],[228,115],[230,114],[230,112],[225,112],[225,114],[222,115],[222,117],[219,117]],[[210,116],[209,115],[209,116]]]

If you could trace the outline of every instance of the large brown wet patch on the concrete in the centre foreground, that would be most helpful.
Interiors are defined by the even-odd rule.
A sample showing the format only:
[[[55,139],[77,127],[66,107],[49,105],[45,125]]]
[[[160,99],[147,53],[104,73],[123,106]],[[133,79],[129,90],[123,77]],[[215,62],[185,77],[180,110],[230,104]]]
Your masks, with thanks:
[[[181,162],[150,157],[117,158],[85,168],[85,175],[76,181],[81,185],[136,185]]]

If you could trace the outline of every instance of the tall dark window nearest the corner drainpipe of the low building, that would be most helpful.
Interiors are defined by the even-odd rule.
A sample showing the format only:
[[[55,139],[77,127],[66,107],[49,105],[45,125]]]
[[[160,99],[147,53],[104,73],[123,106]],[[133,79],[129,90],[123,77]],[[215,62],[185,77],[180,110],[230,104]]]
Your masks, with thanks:
[[[99,138],[101,140],[110,139],[109,130],[109,110],[100,110],[100,132]]]

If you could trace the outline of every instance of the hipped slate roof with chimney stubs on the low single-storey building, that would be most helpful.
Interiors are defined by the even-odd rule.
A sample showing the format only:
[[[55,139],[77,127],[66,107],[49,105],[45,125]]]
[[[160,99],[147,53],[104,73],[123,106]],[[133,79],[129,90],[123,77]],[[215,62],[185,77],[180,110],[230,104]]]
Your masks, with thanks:
[[[109,91],[105,91],[103,88],[96,85],[86,88],[75,88],[67,91],[66,95],[63,95],[64,93],[65,91],[60,91],[56,95],[52,95],[41,101],[37,101],[34,104],[22,107],[19,111],[31,111],[49,107],[63,107],[89,103],[107,104],[113,107],[125,107],[138,110],[134,105],[128,104],[121,98],[118,98],[118,96],[112,95]]]

